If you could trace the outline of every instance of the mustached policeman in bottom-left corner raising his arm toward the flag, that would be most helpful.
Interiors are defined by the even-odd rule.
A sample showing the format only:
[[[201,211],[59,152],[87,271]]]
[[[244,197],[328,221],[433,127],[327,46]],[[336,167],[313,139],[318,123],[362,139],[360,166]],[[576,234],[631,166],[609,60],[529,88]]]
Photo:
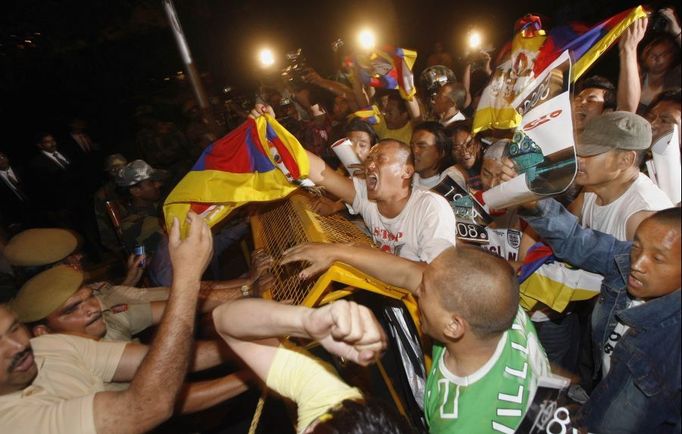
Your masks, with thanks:
[[[180,240],[177,221],[171,231],[175,274],[170,300],[158,333],[138,363],[122,363],[135,351],[129,343],[69,335],[29,341],[28,331],[14,313],[0,305],[3,433],[146,432],[172,415],[190,362],[201,275],[211,257],[210,229],[197,215],[190,213],[188,218],[191,225],[185,240]],[[62,284],[77,281],[77,274],[64,273],[60,279]],[[111,381],[130,385],[111,391]],[[183,406],[184,410],[198,408]]]

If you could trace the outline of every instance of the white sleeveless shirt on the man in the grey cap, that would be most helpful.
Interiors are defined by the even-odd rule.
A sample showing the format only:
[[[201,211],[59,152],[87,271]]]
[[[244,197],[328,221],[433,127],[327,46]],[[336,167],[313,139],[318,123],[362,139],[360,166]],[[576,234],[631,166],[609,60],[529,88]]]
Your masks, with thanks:
[[[625,241],[627,222],[633,214],[639,211],[659,211],[672,206],[673,203],[663,190],[648,176],[640,173],[630,188],[608,205],[597,205],[597,195],[585,193],[582,225]]]

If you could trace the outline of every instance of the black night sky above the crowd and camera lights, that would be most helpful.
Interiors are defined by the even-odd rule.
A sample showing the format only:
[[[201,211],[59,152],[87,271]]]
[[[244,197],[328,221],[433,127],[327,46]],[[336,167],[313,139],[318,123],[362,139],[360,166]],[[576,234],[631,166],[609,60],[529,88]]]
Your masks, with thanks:
[[[333,71],[330,44],[355,43],[368,26],[379,43],[416,48],[417,71],[436,41],[461,55],[476,27],[499,48],[527,12],[545,27],[570,20],[596,22],[635,5],[631,1],[248,1],[175,0],[179,19],[209,93],[224,85],[249,89],[259,78],[255,52],[283,55],[302,48],[322,74]],[[89,121],[109,149],[129,149],[135,107],[191,98],[175,40],[160,0],[5,1],[0,13],[0,150],[23,159],[42,130],[65,133],[68,120]],[[612,52],[615,50],[611,50]],[[597,65],[613,72],[613,59]],[[166,78],[166,80],[164,80]],[[179,110],[179,108],[178,108]]]

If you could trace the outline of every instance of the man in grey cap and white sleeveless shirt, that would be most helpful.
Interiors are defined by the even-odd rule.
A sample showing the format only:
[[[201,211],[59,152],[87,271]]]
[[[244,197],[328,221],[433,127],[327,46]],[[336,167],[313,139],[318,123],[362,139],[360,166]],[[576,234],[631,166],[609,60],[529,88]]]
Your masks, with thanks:
[[[587,123],[575,178],[584,193],[571,205],[583,227],[632,240],[644,219],[673,205],[639,171],[650,145],[651,125],[634,113],[604,113]]]

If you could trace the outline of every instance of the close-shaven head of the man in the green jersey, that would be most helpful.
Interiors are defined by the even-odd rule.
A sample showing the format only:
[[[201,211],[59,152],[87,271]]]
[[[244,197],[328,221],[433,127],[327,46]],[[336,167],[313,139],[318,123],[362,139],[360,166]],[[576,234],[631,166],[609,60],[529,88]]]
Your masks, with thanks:
[[[443,309],[462,316],[476,336],[489,338],[511,327],[519,308],[519,285],[507,261],[459,245],[441,253],[431,267]]]

